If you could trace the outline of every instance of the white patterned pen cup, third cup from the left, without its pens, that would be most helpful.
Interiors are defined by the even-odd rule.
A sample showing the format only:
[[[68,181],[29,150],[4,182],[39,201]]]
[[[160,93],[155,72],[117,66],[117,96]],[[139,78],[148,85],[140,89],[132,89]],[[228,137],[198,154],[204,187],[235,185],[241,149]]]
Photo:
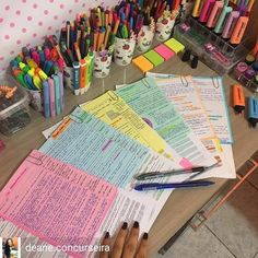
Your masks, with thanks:
[[[113,52],[114,46],[112,49],[109,48],[108,50],[95,52],[93,70],[93,75],[95,78],[105,78],[109,74]]]

